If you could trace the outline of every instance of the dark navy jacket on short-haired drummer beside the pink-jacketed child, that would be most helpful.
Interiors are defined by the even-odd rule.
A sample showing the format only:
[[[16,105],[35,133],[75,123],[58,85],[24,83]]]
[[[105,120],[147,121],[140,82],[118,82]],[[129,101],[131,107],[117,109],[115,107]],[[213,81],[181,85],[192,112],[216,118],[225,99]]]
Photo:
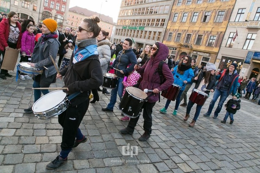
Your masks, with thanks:
[[[124,74],[122,74],[118,70],[115,70],[115,74],[118,77],[124,77],[124,76],[128,76],[128,73],[134,70],[134,66],[136,63],[137,63],[136,56],[133,50],[130,48],[127,50],[120,51],[117,55],[117,58],[113,62],[112,66],[118,70],[123,70]],[[128,64],[131,65],[129,65],[129,67],[127,68]]]

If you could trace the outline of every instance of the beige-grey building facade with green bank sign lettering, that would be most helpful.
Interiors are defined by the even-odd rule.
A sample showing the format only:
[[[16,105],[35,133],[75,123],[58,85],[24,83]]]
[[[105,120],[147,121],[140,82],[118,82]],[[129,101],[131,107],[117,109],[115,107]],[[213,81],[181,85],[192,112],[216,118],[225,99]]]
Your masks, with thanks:
[[[144,48],[162,42],[172,8],[172,0],[123,0],[113,42],[132,38],[133,46]],[[165,57],[166,58],[166,57]]]

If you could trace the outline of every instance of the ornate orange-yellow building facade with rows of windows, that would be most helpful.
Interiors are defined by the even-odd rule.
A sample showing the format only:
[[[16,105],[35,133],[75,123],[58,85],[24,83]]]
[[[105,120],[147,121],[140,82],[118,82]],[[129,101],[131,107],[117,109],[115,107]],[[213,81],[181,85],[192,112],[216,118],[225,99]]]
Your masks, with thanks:
[[[235,0],[174,1],[163,43],[175,60],[186,55],[205,66],[214,63]]]

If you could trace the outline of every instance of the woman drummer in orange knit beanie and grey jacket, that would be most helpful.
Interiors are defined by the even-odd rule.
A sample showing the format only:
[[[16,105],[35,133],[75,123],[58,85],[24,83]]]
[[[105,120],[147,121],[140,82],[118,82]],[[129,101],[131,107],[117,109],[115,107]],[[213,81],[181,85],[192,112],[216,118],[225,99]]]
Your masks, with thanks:
[[[29,63],[32,67],[43,68],[45,66],[48,69],[44,69],[42,75],[34,76],[34,88],[48,88],[51,83],[56,82],[56,69],[52,63],[50,56],[56,60],[56,56],[59,50],[60,43],[58,41],[58,35],[55,32],[57,29],[57,22],[53,19],[44,19],[42,21],[42,37],[38,39],[37,44],[34,47],[32,55],[32,63]],[[49,90],[34,90],[34,103],[43,95],[48,94]],[[24,109],[26,113],[32,113],[32,107]]]

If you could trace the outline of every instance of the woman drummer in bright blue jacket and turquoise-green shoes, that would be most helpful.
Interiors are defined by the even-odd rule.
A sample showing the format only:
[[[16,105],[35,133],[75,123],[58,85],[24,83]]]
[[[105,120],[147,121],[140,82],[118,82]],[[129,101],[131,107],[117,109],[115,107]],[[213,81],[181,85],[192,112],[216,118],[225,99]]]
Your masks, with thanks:
[[[174,83],[181,86],[182,88],[179,91],[179,94],[176,97],[175,108],[172,115],[177,114],[177,110],[180,104],[180,98],[183,90],[185,89],[186,83],[191,83],[191,78],[194,76],[193,70],[191,68],[191,57],[187,55],[183,60],[179,61],[179,64],[172,69],[172,74],[174,76]],[[177,77],[179,76],[179,77]],[[167,113],[167,108],[171,100],[167,99],[164,108],[160,109],[160,112]]]

